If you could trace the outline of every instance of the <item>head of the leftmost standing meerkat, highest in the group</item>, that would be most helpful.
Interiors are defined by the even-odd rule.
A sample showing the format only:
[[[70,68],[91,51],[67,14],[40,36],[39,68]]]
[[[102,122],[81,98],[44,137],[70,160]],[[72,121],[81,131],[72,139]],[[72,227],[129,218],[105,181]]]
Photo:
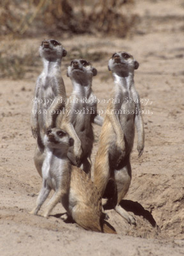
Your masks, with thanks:
[[[49,61],[61,60],[67,54],[61,43],[54,39],[43,40],[39,52],[42,58]]]

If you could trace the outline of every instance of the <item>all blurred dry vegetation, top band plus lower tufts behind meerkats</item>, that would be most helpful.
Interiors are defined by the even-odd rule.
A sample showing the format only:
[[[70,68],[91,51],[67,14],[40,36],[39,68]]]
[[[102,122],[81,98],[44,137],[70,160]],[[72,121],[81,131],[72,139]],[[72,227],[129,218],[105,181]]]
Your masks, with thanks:
[[[81,34],[125,38],[139,20],[133,9],[134,0],[0,0],[0,36],[12,42],[1,44],[0,77],[20,79],[26,74],[25,66],[30,69],[39,64],[31,51],[24,56],[13,52],[13,40]],[[91,61],[103,58],[99,52],[89,56],[86,49],[73,51]]]

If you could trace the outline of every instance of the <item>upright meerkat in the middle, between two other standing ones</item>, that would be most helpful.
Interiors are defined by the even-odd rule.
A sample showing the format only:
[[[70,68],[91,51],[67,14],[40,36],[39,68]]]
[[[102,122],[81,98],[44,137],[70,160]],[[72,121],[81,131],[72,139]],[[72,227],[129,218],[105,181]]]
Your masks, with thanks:
[[[73,147],[68,150],[70,161],[77,166],[82,164],[84,172],[90,175],[88,157],[94,141],[92,122],[102,126],[104,120],[97,115],[96,97],[91,90],[92,77],[96,76],[97,70],[86,60],[73,60],[67,74],[72,80],[73,92],[61,128],[74,140]]]

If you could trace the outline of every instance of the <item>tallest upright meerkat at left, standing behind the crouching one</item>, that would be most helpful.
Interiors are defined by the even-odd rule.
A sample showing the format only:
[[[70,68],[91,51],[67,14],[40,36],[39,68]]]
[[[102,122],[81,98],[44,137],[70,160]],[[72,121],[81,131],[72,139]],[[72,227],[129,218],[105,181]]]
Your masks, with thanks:
[[[41,175],[44,158],[44,154],[42,154],[44,150],[43,135],[48,127],[57,126],[56,114],[65,108],[66,91],[61,76],[61,60],[67,52],[61,43],[54,39],[43,40],[39,52],[43,61],[43,71],[36,81],[31,113],[31,130],[38,145],[34,152],[34,163]],[[55,111],[56,109],[57,111]],[[40,148],[40,154],[38,148]]]

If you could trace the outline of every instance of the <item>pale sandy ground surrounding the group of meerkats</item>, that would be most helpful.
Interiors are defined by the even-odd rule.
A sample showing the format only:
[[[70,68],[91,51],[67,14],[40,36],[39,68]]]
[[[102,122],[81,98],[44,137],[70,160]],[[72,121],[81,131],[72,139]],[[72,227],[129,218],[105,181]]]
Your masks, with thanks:
[[[145,148],[138,159],[135,138],[132,184],[122,201],[137,226],[129,225],[113,210],[107,213],[117,235],[89,232],[75,223],[65,223],[56,215],[65,212],[61,205],[48,219],[28,213],[42,182],[33,164],[35,140],[29,122],[35,81],[42,70],[40,61],[37,71],[27,73],[21,81],[1,79],[0,255],[183,255],[184,6],[183,1],[137,2],[135,12],[141,20],[134,37],[60,38],[68,52],[77,46],[106,54],[101,61],[93,62],[98,70],[93,91],[100,100],[111,95],[113,83],[107,61],[114,51],[128,51],[140,63],[135,86],[144,109]],[[16,40],[15,51],[21,45],[20,54],[33,51],[38,56],[41,40]],[[72,92],[66,77],[69,63],[64,59],[62,65],[68,95]],[[98,109],[103,111],[106,106],[101,102]],[[94,126],[94,131],[93,163],[100,128]]]

